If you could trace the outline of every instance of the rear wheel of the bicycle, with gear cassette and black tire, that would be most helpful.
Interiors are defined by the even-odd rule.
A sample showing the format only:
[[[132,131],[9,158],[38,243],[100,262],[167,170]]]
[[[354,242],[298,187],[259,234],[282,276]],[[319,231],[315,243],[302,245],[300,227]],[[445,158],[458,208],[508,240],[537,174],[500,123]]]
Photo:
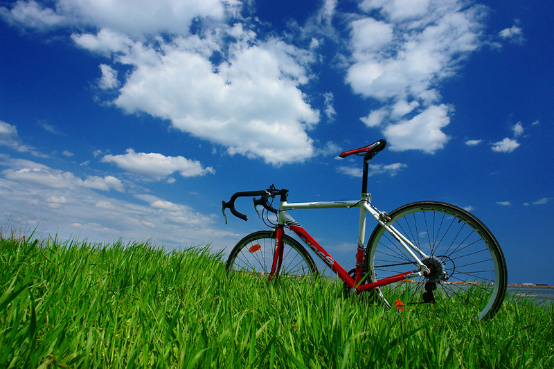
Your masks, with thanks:
[[[483,222],[458,206],[438,201],[406,204],[388,217],[391,220],[386,224],[429,256],[422,262],[431,273],[379,287],[378,295],[386,305],[400,301],[407,308],[433,306],[445,314],[477,321],[498,312],[506,295],[508,271],[497,239]],[[370,282],[409,271],[410,262],[417,269],[400,243],[383,226],[376,226],[366,249]]]

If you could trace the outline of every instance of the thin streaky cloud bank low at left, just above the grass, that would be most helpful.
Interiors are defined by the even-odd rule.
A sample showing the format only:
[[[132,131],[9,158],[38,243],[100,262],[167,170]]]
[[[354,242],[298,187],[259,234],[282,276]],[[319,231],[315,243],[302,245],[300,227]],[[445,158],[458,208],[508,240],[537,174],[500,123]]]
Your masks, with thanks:
[[[6,155],[0,156],[0,165],[8,167],[0,172],[3,224],[9,217],[12,224],[37,227],[37,237],[84,236],[93,242],[124,237],[170,247],[215,241],[215,251],[230,246],[230,239],[236,241],[236,235],[215,228],[214,215],[190,206],[152,195],[111,197],[113,192],[103,189],[119,186],[114,177],[80,179],[71,172]]]

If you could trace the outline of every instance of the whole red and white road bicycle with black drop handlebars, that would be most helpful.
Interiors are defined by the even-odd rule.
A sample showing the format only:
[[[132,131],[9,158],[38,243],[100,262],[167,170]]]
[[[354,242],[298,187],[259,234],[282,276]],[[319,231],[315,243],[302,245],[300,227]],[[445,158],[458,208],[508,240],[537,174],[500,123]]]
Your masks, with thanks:
[[[267,281],[319,276],[310,253],[285,234],[287,228],[337,274],[350,294],[365,294],[372,303],[386,307],[456,307],[478,321],[492,318],[502,305],[507,283],[506,260],[497,239],[483,222],[452,204],[418,201],[391,213],[378,210],[367,190],[368,163],[385,146],[386,141],[379,140],[339,155],[364,157],[360,199],[288,203],[288,190],[271,185],[266,190],[236,192],[229,202],[222,201],[227,223],[226,208],[247,220],[247,215],[235,209],[235,200],[253,197],[256,212],[262,206],[264,221],[272,228],[242,238],[229,255],[226,273]],[[279,206],[274,208],[277,196]],[[359,208],[355,269],[343,269],[289,215],[290,210],[314,208]],[[267,223],[269,213],[275,214],[276,223]],[[364,247],[368,214],[377,226]]]

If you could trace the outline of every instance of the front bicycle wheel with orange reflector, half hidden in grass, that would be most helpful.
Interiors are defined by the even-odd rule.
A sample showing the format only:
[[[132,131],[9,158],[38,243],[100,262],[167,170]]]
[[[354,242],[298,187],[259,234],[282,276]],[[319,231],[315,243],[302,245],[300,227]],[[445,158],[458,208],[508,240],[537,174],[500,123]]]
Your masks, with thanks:
[[[242,238],[229,255],[225,270],[227,276],[242,273],[262,278],[269,277],[275,253],[276,237],[273,231],[258,231]],[[294,238],[283,235],[283,262],[277,278],[318,276],[316,264],[307,250]]]

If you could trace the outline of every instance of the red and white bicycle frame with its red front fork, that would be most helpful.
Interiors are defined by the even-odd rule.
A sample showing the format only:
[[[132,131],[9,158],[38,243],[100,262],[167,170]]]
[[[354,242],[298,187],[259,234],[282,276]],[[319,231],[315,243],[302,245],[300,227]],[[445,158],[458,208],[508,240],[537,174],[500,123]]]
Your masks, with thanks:
[[[350,289],[357,291],[366,291],[375,287],[390,285],[391,283],[401,280],[407,280],[416,276],[424,276],[429,273],[429,269],[422,263],[421,259],[428,258],[418,247],[416,247],[408,238],[397,231],[393,226],[386,224],[386,215],[380,213],[377,209],[370,205],[371,195],[362,194],[360,200],[350,201],[318,201],[318,202],[302,202],[288,204],[286,201],[280,201],[278,213],[278,225],[276,227],[276,251],[274,254],[273,264],[269,273],[269,279],[279,273],[280,264],[283,259],[283,233],[285,226],[291,229],[305,244],[316,253],[316,255],[327,264],[332,271],[337,273]],[[341,265],[332,258],[332,256],[323,249],[323,247],[310,236],[307,231],[298,224],[293,217],[287,213],[287,210],[294,209],[323,209],[323,208],[360,208],[359,213],[359,233],[358,247],[356,253],[356,273],[355,278],[352,278]],[[369,213],[381,226],[384,226],[386,231],[390,233],[413,258],[415,264],[418,264],[419,270],[406,271],[395,276],[383,278],[371,283],[361,284],[361,274],[364,262],[364,240],[366,233],[366,215]],[[419,257],[418,257],[419,255]]]

